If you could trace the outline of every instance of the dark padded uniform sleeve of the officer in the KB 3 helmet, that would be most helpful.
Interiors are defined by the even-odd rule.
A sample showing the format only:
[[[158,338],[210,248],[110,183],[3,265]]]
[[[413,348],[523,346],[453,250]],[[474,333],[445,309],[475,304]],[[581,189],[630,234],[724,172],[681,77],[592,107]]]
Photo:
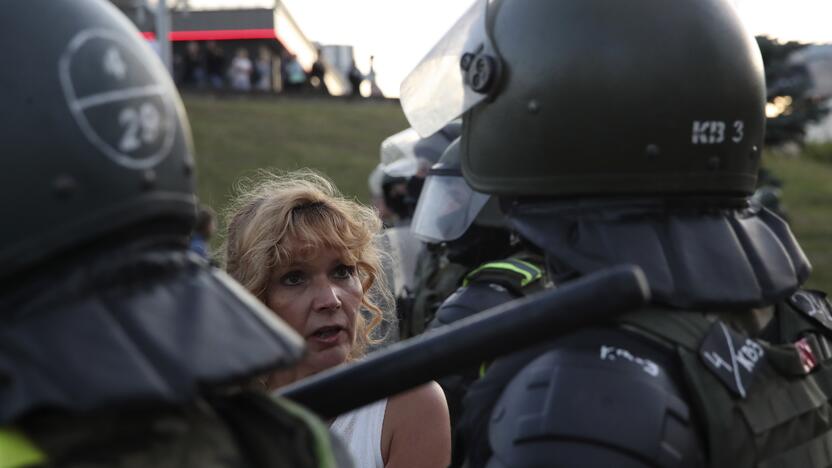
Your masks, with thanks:
[[[495,361],[465,398],[469,466],[704,466],[674,360],[594,329]]]

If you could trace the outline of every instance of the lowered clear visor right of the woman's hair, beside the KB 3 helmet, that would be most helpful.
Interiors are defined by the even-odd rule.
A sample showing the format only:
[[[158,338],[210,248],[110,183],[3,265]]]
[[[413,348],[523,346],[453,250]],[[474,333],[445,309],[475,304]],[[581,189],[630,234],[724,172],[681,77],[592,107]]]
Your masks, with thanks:
[[[410,229],[425,242],[459,239],[489,198],[472,190],[461,175],[431,174],[425,180]]]

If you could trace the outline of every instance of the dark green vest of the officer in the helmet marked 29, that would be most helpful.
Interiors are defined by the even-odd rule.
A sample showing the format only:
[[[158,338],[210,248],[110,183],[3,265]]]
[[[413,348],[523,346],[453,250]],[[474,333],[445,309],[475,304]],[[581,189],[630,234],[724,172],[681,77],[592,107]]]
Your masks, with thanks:
[[[150,426],[104,415],[0,428],[0,468],[338,466],[327,427],[295,403],[243,393],[207,407],[160,411]],[[148,440],[130,442],[140,435]]]

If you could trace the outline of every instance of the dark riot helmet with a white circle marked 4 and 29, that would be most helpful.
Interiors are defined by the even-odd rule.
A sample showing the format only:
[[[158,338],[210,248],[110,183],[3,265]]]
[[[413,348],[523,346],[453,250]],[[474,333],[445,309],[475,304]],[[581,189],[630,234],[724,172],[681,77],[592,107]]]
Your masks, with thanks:
[[[0,38],[0,278],[195,217],[191,135],[164,66],[102,0],[10,0]],[[44,29],[46,26],[46,29]]]

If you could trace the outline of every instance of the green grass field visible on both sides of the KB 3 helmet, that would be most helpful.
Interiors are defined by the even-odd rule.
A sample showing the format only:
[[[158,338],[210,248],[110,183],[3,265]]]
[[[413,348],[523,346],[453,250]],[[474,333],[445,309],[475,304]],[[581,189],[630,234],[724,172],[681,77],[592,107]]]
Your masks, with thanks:
[[[185,106],[199,196],[218,212],[234,183],[261,168],[315,168],[367,201],[381,141],[408,126],[395,102],[191,95]],[[792,227],[814,265],[809,286],[832,291],[832,146],[809,148],[804,157],[770,153],[765,165],[784,180]]]

